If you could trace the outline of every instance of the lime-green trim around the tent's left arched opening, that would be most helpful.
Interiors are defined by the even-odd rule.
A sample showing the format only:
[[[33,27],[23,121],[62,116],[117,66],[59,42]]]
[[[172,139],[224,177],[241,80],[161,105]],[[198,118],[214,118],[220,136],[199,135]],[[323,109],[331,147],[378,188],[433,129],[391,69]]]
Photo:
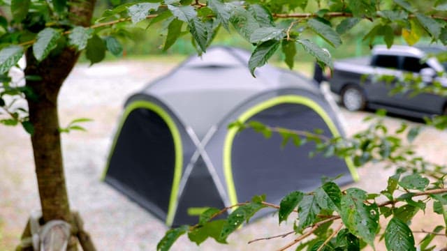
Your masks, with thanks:
[[[173,118],[159,105],[154,104],[153,102],[138,100],[131,102],[126,106],[124,110],[124,114],[122,116],[121,121],[119,122],[119,128],[117,132],[121,132],[122,127],[124,126],[124,121],[126,121],[127,116],[133,112],[135,109],[149,109],[158,114],[163,121],[166,122],[168,128],[173,135],[174,148],[175,148],[175,165],[174,165],[174,179],[173,186],[170,192],[169,199],[169,207],[168,207],[168,215],[166,216],[166,225],[173,225],[175,211],[177,209],[177,201],[178,201],[178,193],[179,193],[179,184],[180,179],[182,178],[182,169],[183,169],[183,147],[182,147],[182,137],[180,137],[179,130],[175,125]],[[117,145],[119,133],[116,134],[115,139],[113,140],[112,150],[110,151],[110,155],[108,157],[107,166],[104,169],[102,179],[104,180],[105,174],[107,173],[108,167],[110,166],[110,158],[112,158],[112,153],[115,151],[115,146]]]

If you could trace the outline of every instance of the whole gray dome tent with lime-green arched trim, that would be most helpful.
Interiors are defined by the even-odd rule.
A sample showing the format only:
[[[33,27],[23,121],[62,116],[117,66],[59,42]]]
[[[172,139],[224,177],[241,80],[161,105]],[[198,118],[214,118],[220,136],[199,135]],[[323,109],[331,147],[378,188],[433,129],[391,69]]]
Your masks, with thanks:
[[[357,178],[351,161],[309,158],[311,144],[281,149],[281,137],[228,129],[261,121],[295,130],[342,135],[318,86],[288,70],[263,66],[256,78],[250,54],[212,47],[192,56],[127,100],[110,151],[105,181],[166,225],[197,222],[206,207],[223,208],[267,195],[279,203],[292,190],[313,190],[321,176],[339,184]]]

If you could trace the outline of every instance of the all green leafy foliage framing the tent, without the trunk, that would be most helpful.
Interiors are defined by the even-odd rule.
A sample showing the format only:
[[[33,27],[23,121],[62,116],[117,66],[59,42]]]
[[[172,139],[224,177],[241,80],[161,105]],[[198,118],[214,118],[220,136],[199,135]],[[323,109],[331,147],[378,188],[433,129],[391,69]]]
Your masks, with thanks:
[[[10,19],[0,18],[0,106],[6,114],[0,123],[11,126],[22,123],[27,132],[31,135],[34,132],[26,107],[15,105],[15,100],[20,98],[32,100],[34,91],[13,82],[7,75],[25,52],[32,52],[27,56],[34,56],[36,61],[41,62],[58,56],[68,47],[85,51],[91,64],[98,63],[103,61],[106,52],[122,55],[121,41],[129,38],[129,25],[144,25],[150,30],[152,25],[161,24],[164,28],[162,33],[167,35],[164,50],[168,50],[182,36],[190,34],[191,45],[198,54],[206,52],[221,26],[228,31],[234,30],[254,46],[248,65],[254,76],[256,68],[265,65],[280,47],[284,61],[290,68],[295,56],[305,53],[313,56],[321,66],[332,68],[332,56],[312,38],[319,36],[325,43],[337,48],[342,45],[342,34],[349,33],[362,22],[369,23],[369,28],[362,30],[363,40],[369,44],[374,43],[376,38],[382,38],[390,47],[395,43],[395,36],[400,34],[411,45],[423,36],[447,44],[447,8],[441,0],[424,1],[424,6],[420,6],[418,1],[406,0],[147,0],[113,3],[114,7],[105,10],[95,24],[81,27],[72,22],[75,17],[68,10],[75,8],[75,5],[71,1],[0,1],[0,7],[8,9],[11,15]],[[426,6],[434,7],[427,9]],[[41,77],[26,76],[25,79]],[[430,88],[434,91],[445,91],[442,84],[433,86]],[[429,91],[433,91],[431,89]],[[73,121],[59,131],[82,130],[77,123],[83,121]],[[447,122],[440,116],[432,124],[445,128]],[[297,238],[281,250],[309,236],[314,238],[313,241],[302,243],[300,248],[359,250],[365,243],[374,246],[376,235],[380,233],[378,220],[381,216],[392,216],[383,234],[387,248],[415,250],[409,222],[416,212],[425,211],[429,201],[433,201],[434,213],[443,215],[444,223],[447,222],[445,167],[425,161],[402,139],[404,136],[411,143],[418,135],[418,128],[408,128],[403,124],[399,130],[389,132],[378,119],[367,130],[351,139],[344,139],[325,137],[318,130],[301,132],[272,128],[254,121],[247,124],[236,121],[233,126],[240,130],[251,128],[266,137],[279,133],[283,144],[293,142],[301,146],[312,142],[316,146],[312,154],[351,157],[358,167],[366,162],[384,161],[397,167],[396,174],[389,178],[387,188],[380,195],[358,188],[342,190],[333,181],[325,180],[312,192],[291,192],[279,206],[269,204],[265,197],[256,196],[252,201],[236,207],[228,205],[222,210],[210,208],[201,215],[197,225],[170,229],[160,241],[159,250],[168,250],[182,234],[188,234],[189,239],[197,244],[209,237],[226,243],[229,234],[265,207],[279,210],[279,222],[294,215],[295,227],[288,234],[297,234]],[[227,211],[230,214],[226,220],[214,220]],[[335,221],[342,223],[332,230],[330,225]],[[427,234],[421,247],[430,250],[430,241],[445,228],[444,224]]]

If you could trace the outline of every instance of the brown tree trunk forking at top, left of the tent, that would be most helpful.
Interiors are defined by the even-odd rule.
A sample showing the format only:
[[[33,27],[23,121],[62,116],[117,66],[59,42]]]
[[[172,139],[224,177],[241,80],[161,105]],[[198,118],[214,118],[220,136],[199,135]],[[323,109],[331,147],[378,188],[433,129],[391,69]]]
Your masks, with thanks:
[[[69,11],[73,17],[73,24],[89,26],[95,1],[70,2]],[[78,60],[79,52],[66,47],[59,54],[48,56],[47,59],[38,62],[29,47],[26,56],[25,75],[41,77],[38,81],[27,80],[27,86],[36,94],[36,97],[27,96],[27,101],[29,121],[34,126],[31,142],[43,222],[65,220],[72,223],[59,135],[57,96],[64,80]]]

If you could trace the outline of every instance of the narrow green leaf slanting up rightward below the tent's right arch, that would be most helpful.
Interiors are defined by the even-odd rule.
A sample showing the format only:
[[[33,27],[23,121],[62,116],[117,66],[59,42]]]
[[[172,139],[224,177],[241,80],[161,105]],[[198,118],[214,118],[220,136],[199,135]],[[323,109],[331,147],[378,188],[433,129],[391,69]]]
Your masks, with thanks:
[[[244,221],[248,221],[261,208],[264,208],[263,204],[258,202],[251,202],[236,208],[233,213],[228,215],[225,224],[222,227],[219,240],[226,241],[226,238],[233,233]]]

